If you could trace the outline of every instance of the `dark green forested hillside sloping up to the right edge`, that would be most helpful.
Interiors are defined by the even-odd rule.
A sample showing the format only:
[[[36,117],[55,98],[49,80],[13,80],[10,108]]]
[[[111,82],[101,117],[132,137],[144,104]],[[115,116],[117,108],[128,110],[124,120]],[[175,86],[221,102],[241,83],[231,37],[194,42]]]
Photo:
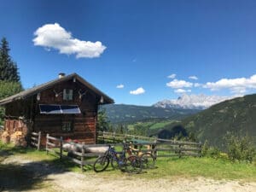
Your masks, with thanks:
[[[256,94],[220,102],[183,119],[182,125],[201,142],[207,139],[218,147],[222,146],[227,131],[247,133],[256,140]]]

